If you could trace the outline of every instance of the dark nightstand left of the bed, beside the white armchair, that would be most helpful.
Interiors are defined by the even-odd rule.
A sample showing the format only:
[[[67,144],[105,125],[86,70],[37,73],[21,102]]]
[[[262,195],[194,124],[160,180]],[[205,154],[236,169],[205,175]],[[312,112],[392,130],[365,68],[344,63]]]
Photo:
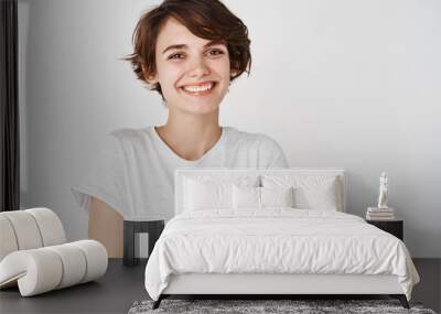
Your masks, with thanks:
[[[149,256],[153,250],[154,243],[164,229],[163,219],[137,217],[131,220],[123,220],[123,259],[125,266],[136,266],[139,259],[135,257],[136,234],[149,234]]]

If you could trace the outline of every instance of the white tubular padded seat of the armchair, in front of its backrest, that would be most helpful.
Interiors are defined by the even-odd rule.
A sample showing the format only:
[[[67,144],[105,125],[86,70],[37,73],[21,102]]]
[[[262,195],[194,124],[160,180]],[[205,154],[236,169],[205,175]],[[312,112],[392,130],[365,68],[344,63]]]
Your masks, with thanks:
[[[14,251],[0,262],[0,286],[18,281],[31,296],[95,280],[106,273],[107,251],[95,240]]]

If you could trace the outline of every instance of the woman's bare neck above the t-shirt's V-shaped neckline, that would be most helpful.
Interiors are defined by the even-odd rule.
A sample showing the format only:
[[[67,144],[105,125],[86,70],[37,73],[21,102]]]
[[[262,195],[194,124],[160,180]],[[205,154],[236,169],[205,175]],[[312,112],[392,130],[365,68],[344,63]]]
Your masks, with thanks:
[[[185,160],[198,160],[220,139],[218,110],[207,115],[180,113],[169,111],[164,126],[155,128],[160,138],[174,153]]]

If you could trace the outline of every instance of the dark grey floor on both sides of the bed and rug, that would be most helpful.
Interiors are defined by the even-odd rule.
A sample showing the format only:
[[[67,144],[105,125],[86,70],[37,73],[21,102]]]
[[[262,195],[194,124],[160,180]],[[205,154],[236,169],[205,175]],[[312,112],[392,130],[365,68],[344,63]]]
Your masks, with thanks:
[[[421,282],[412,300],[440,312],[441,259],[413,260]],[[109,260],[107,273],[89,282],[45,294],[21,297],[17,288],[0,291],[0,313],[127,313],[137,300],[149,299],[143,284],[146,261],[127,268]]]

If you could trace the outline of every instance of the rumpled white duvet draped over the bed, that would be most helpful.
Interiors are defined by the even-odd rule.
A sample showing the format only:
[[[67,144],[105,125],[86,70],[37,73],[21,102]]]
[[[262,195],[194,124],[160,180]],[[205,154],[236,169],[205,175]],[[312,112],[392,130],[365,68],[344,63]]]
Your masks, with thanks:
[[[165,226],[146,268],[158,300],[170,274],[395,274],[410,300],[419,275],[402,241],[361,217],[266,208],[183,213]]]

